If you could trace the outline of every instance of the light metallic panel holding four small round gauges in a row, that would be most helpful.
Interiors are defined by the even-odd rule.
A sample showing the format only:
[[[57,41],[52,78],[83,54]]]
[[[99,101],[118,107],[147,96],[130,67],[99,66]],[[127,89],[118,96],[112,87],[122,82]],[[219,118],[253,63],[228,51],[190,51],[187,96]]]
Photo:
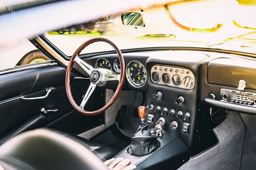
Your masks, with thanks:
[[[151,68],[151,80],[155,84],[192,89],[195,76],[188,69],[155,65]]]

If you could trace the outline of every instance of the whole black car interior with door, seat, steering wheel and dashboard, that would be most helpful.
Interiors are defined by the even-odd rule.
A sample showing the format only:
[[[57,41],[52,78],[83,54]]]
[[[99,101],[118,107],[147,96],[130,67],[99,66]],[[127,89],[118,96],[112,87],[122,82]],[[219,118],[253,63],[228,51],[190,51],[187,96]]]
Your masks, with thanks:
[[[121,24],[145,27],[142,14]],[[0,72],[0,169],[255,169],[255,54],[96,37],[67,57],[29,40],[51,60]],[[95,42],[114,50],[81,53]]]

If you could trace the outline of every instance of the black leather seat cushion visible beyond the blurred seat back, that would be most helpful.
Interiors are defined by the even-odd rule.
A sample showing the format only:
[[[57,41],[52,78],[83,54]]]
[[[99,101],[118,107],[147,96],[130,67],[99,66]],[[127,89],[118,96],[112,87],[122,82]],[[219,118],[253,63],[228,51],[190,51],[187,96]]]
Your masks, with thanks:
[[[70,138],[73,138],[77,142],[83,144],[91,152],[95,153],[102,161],[110,159],[110,158],[116,156],[119,153],[119,151],[114,149],[114,148],[104,146],[102,144],[99,144],[99,143],[93,142],[91,140],[82,138],[82,137],[77,136],[75,134],[67,134],[66,136],[70,137]]]

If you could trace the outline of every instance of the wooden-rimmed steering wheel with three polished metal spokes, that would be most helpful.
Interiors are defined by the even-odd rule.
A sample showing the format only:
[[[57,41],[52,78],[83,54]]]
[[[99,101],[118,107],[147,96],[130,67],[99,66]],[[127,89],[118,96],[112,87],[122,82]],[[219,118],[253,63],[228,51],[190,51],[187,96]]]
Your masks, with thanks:
[[[92,44],[94,42],[98,42],[98,41],[107,42],[116,50],[119,60],[120,60],[120,65],[121,65],[121,73],[120,74],[117,74],[116,72],[113,72],[113,71],[107,70],[107,69],[94,69],[92,66],[90,66],[89,64],[87,64],[85,61],[81,60],[78,57],[80,52],[86,46],[88,46],[89,44]],[[85,96],[83,97],[83,100],[80,105],[77,105],[75,100],[73,99],[72,94],[71,94],[71,88],[70,88],[71,69],[72,69],[75,61],[83,70],[85,70],[90,75],[90,80],[91,80],[91,84],[90,84]],[[122,52],[118,49],[118,47],[112,41],[110,41],[106,38],[101,38],[101,37],[92,38],[92,39],[86,41],[85,43],[83,43],[75,51],[75,53],[73,54],[73,56],[71,57],[71,59],[69,61],[69,64],[67,67],[67,72],[66,72],[66,78],[65,78],[66,93],[68,96],[68,100],[70,101],[71,105],[81,114],[96,115],[96,114],[102,113],[103,111],[108,109],[114,103],[114,101],[117,99],[118,95],[120,94],[121,89],[123,87],[124,76],[125,76],[124,59],[123,59]],[[113,81],[113,80],[118,80],[119,83],[118,83],[117,90],[116,90],[115,94],[113,95],[113,97],[111,98],[111,100],[109,100],[109,102],[105,106],[103,106],[101,109],[98,109],[96,111],[84,110],[84,106],[85,106],[86,102],[88,101],[89,97],[91,96],[92,92],[96,88],[96,86],[97,85],[100,85],[100,86],[105,85],[105,84],[107,84],[107,81]]]

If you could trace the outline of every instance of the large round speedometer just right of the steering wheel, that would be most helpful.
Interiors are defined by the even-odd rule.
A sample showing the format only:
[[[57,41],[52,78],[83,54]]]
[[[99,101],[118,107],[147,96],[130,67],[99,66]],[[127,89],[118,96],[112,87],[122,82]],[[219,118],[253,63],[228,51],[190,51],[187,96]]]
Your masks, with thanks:
[[[133,87],[141,87],[147,81],[147,72],[139,61],[131,61],[126,67],[126,78]]]

